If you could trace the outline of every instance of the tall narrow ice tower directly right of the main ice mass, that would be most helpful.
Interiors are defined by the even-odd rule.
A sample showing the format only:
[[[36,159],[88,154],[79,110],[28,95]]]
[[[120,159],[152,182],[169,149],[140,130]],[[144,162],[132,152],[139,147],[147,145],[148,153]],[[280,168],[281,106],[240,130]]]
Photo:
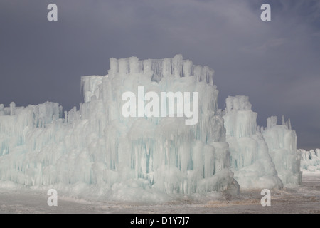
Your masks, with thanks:
[[[231,170],[240,188],[281,188],[267,143],[257,129],[257,113],[247,96],[225,100],[226,140],[229,143]]]

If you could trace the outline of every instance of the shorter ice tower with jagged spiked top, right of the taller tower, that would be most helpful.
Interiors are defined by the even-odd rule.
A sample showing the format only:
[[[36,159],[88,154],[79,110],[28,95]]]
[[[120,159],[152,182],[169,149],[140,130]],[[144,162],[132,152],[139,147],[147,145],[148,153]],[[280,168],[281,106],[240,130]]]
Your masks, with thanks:
[[[268,118],[267,128],[262,130],[262,135],[282,182],[300,185],[302,182],[301,155],[299,151],[297,152],[297,135],[291,129],[290,120],[285,121],[282,116],[282,125],[277,125],[276,116]]]

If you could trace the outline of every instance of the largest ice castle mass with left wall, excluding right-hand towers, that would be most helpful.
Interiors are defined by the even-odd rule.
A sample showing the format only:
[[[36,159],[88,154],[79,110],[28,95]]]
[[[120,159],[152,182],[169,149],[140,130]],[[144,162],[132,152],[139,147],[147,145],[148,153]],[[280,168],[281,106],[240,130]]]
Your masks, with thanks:
[[[212,69],[181,55],[111,58],[106,76],[84,76],[81,85],[84,103],[64,115],[57,103],[0,105],[0,180],[120,200],[236,188]],[[198,123],[125,118],[122,94],[138,97],[138,86],[198,92]]]

